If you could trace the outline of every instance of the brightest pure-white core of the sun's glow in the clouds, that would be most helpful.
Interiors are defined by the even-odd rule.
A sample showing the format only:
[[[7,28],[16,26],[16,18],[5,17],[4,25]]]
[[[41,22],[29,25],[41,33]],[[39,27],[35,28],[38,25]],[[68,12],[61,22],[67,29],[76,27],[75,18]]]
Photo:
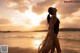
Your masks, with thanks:
[[[25,18],[27,17],[30,20],[32,26],[38,26],[42,20],[40,15],[33,13],[31,10],[25,11],[22,16]]]

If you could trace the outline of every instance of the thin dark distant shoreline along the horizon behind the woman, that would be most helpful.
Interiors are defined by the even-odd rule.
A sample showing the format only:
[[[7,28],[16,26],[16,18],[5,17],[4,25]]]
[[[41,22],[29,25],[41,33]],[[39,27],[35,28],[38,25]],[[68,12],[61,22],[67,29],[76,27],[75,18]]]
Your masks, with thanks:
[[[34,30],[34,31],[0,31],[0,33],[11,32],[47,32],[48,30]],[[80,31],[80,28],[60,28],[59,31]]]

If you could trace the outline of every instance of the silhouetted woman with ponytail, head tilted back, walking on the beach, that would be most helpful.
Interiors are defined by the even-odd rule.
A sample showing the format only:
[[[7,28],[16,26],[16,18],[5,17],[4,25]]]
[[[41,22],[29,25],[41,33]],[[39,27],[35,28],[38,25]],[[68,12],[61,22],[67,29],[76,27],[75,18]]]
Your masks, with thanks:
[[[44,41],[39,46],[39,53],[54,53],[55,48],[57,53],[61,53],[59,40],[57,38],[59,32],[59,19],[56,17],[57,9],[50,7],[48,9],[47,22],[49,24],[48,33]]]

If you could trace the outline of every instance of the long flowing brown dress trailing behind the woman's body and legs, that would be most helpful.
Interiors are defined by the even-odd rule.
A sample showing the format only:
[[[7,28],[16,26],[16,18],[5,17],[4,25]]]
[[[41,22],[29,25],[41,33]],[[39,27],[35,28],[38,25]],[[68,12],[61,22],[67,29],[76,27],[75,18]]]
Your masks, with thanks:
[[[48,27],[48,33],[46,38],[43,40],[43,42],[39,46],[39,50],[38,50],[39,53],[49,53],[52,46],[54,45],[55,33],[53,30],[53,27],[54,27],[54,24],[56,23],[56,20],[57,19],[55,18],[55,16],[51,17],[49,27]]]

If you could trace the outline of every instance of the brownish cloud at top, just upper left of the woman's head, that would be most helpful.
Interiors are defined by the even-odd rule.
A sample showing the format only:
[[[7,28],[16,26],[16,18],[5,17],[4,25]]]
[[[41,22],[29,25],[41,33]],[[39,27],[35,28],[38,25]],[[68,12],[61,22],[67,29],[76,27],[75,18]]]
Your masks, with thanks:
[[[55,2],[57,2],[57,0],[45,0],[43,2],[36,3],[36,5],[33,5],[32,11],[37,14],[44,13],[50,6],[55,4]]]

